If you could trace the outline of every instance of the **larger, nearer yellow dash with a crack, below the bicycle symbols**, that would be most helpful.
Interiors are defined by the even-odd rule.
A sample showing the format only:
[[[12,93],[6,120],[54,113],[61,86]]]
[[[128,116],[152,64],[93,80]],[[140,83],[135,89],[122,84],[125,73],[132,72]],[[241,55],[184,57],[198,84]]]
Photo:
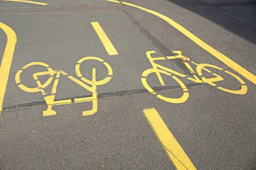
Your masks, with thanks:
[[[150,108],[145,109],[143,112],[177,170],[196,170],[157,111],[154,108]]]

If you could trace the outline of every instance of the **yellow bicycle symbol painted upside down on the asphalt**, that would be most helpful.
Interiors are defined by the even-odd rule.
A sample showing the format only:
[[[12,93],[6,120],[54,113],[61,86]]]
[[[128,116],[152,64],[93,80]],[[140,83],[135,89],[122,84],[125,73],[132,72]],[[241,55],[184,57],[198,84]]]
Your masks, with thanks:
[[[84,62],[85,60],[97,60],[103,63],[103,65],[105,65],[108,69],[108,76],[105,77],[102,80],[97,81],[96,80],[96,69],[93,68],[92,71],[92,80],[86,79],[82,76],[81,71],[80,71],[80,64],[82,62]],[[38,87],[35,88],[29,88],[26,87],[25,85],[23,85],[20,82],[20,74],[28,67],[32,66],[32,65],[41,65],[43,67],[45,67],[47,69],[47,71],[42,71],[42,72],[38,72],[33,74],[33,78],[35,79]],[[93,115],[94,113],[97,112],[98,110],[98,94],[96,92],[96,86],[97,85],[103,85],[107,82],[109,82],[113,76],[113,71],[111,66],[105,62],[103,59],[98,58],[98,57],[84,57],[82,59],[80,59],[77,64],[76,64],[76,74],[77,76],[82,80],[76,79],[73,76],[68,75],[66,72],[64,71],[56,71],[56,70],[52,70],[52,68],[49,67],[49,65],[47,65],[44,62],[31,62],[27,65],[25,65],[23,68],[21,68],[15,75],[15,81],[18,85],[19,88],[21,88],[23,91],[29,92],[29,93],[35,93],[35,92],[41,92],[44,95],[44,99],[48,105],[48,108],[46,111],[43,111],[44,116],[49,116],[49,115],[55,115],[56,112],[52,110],[52,106],[54,105],[65,105],[65,104],[71,104],[72,101],[71,99],[66,99],[66,100],[58,100],[58,101],[54,101],[55,98],[55,94],[57,91],[57,86],[58,86],[58,80],[60,77],[60,74],[66,76],[67,78],[69,78],[70,80],[72,80],[73,82],[76,82],[78,85],[82,86],[83,88],[85,88],[86,90],[92,92],[92,96],[91,97],[82,97],[82,98],[76,98],[74,99],[75,103],[78,102],[93,102],[93,108],[90,111],[83,111],[83,116],[87,116],[87,115]],[[42,84],[39,79],[38,76],[42,76],[42,75],[49,75],[49,79]],[[50,95],[47,95],[45,92],[45,88],[52,82],[52,80],[54,79],[53,82],[53,86],[52,86],[52,91]],[[85,82],[85,83],[84,83]],[[88,85],[87,85],[88,84]]]

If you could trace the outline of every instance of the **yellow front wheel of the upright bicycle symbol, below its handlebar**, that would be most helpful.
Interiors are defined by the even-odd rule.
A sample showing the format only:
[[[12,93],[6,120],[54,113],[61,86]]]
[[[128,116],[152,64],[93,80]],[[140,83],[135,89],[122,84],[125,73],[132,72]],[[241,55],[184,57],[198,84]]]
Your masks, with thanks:
[[[147,70],[145,70],[142,74],[142,77],[141,77],[141,81],[142,81],[142,84],[144,85],[144,87],[151,93],[151,94],[154,94],[156,95],[159,99],[162,99],[166,102],[170,102],[170,103],[183,103],[183,102],[186,102],[186,100],[189,98],[189,92],[188,92],[188,89],[186,88],[186,85],[184,85],[184,83],[178,79],[176,76],[173,76],[171,75],[170,73],[166,72],[166,71],[163,71],[163,70],[160,70],[160,69],[157,69],[157,71],[159,71],[160,73],[162,74],[166,74],[170,77],[172,77],[173,79],[175,79],[175,81],[180,85],[180,87],[183,89],[183,95],[179,98],[170,98],[170,97],[165,97],[163,95],[160,95],[160,94],[157,94],[157,92],[155,92],[149,85],[148,85],[148,82],[147,82],[147,76],[149,74],[156,74],[154,68],[149,68]]]

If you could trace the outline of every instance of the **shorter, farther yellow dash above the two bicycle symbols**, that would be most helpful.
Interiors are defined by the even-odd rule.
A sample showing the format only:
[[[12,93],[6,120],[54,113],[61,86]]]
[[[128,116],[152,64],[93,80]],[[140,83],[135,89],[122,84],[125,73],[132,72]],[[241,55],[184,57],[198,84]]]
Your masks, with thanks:
[[[103,31],[102,27],[99,25],[98,22],[92,22],[91,23],[94,30],[96,31],[96,33],[99,36],[99,39],[102,41],[102,44],[104,45],[104,47],[106,48],[106,51],[108,52],[108,55],[117,55],[117,51],[116,48],[114,48],[113,44],[111,43],[111,41],[108,39],[108,36],[105,34],[105,32]]]

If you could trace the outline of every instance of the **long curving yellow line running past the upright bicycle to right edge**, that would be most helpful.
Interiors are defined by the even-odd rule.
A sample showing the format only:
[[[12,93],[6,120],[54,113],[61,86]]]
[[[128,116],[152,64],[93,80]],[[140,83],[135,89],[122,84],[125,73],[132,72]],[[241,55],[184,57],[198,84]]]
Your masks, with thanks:
[[[119,3],[116,0],[108,0],[108,1]],[[214,48],[212,48],[210,45],[208,45],[204,41],[200,40],[198,37],[196,37],[194,34],[189,32],[188,30],[186,30],[186,28],[184,28],[183,26],[180,26],[180,24],[176,23],[174,20],[172,20],[169,17],[166,17],[165,15],[160,14],[160,13],[158,13],[156,11],[152,11],[152,10],[149,10],[149,9],[146,9],[146,8],[143,8],[143,7],[131,4],[131,3],[125,3],[123,1],[122,1],[122,3],[125,4],[125,5],[128,5],[128,6],[133,6],[135,8],[142,9],[143,11],[147,11],[147,12],[149,12],[151,14],[156,15],[157,17],[162,18],[163,20],[168,22],[171,26],[173,26],[174,28],[176,28],[177,30],[182,32],[184,35],[189,37],[190,40],[194,41],[201,48],[204,48],[204,50],[208,51],[214,57],[216,57],[217,59],[219,59],[222,62],[224,62],[224,64],[226,64],[227,66],[232,68],[234,71],[238,72],[239,74],[244,76],[246,79],[248,79],[251,82],[253,82],[254,84],[256,84],[256,76],[255,75],[251,74],[249,71],[247,71],[246,69],[241,67],[239,64],[237,64],[236,62],[234,62],[233,60],[231,60],[230,58],[228,58],[224,54],[221,54],[219,51],[215,50]]]

